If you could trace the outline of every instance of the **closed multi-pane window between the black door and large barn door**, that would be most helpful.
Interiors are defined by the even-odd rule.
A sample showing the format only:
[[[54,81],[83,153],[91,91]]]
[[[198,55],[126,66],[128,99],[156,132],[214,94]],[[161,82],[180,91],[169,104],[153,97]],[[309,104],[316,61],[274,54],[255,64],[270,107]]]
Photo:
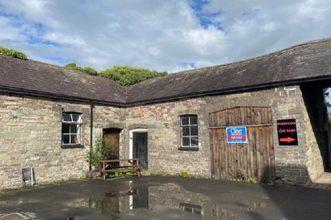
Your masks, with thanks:
[[[197,115],[181,115],[181,146],[199,146]]]

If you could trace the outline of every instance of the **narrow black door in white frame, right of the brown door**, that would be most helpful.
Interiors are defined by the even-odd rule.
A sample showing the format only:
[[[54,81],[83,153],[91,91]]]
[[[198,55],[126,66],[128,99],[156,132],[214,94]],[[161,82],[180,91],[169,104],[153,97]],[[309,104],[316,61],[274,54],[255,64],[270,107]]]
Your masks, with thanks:
[[[133,157],[139,159],[139,164],[143,170],[148,169],[148,143],[147,132],[134,132],[132,137]]]

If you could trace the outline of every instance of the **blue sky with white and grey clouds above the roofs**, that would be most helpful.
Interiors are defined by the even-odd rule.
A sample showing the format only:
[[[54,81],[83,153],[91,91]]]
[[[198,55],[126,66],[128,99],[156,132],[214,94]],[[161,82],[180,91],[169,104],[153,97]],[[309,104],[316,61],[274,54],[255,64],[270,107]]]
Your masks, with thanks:
[[[34,60],[168,72],[331,36],[330,0],[0,0],[0,45]]]

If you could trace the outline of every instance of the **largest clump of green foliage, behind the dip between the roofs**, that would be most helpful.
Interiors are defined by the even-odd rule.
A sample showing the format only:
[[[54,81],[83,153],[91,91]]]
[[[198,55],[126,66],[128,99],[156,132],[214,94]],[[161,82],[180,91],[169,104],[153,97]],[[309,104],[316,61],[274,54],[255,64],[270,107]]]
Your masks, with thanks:
[[[139,83],[148,78],[157,76],[166,76],[167,72],[157,72],[146,68],[128,67],[128,66],[114,66],[99,73],[100,76],[110,78],[119,85],[129,86]]]

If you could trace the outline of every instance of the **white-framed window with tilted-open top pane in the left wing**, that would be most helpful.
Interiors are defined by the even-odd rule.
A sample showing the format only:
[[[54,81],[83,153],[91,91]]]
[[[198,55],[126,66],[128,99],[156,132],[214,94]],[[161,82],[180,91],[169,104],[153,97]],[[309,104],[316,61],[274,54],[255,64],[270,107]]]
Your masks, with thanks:
[[[81,114],[62,113],[62,145],[81,144]]]

